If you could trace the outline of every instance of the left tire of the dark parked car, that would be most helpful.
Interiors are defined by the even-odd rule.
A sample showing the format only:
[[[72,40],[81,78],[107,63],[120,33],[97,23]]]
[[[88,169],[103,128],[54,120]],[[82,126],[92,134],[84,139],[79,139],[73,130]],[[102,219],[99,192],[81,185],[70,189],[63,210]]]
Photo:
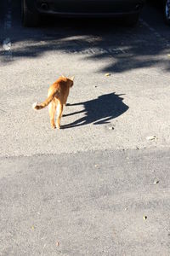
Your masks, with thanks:
[[[21,0],[21,19],[23,26],[38,26],[40,23],[40,16],[37,13],[31,13],[26,0]]]

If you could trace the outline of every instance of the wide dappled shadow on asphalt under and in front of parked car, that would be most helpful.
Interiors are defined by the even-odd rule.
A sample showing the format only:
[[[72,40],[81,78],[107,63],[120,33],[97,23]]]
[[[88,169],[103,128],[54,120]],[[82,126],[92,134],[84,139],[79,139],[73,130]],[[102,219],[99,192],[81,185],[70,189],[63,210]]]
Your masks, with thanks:
[[[160,66],[170,70],[169,59],[160,57],[169,50],[168,39],[166,41],[159,34],[157,36],[141,20],[135,27],[126,27],[122,26],[123,20],[120,24],[111,19],[69,20],[44,17],[41,27],[24,28],[20,19],[20,0],[14,0],[12,4],[13,25],[10,37],[14,44],[13,58],[8,60],[4,51],[1,51],[0,59],[3,62],[10,64],[10,61],[23,57],[36,58],[52,51],[80,54],[84,60],[97,62],[109,58],[110,61],[96,73],[123,73],[143,67]],[[154,9],[152,12],[147,11],[147,7],[145,9],[148,12],[146,15],[154,15]],[[155,15],[157,24],[163,24],[162,14],[156,12]],[[167,30],[169,32],[169,27],[162,26],[166,33]]]

